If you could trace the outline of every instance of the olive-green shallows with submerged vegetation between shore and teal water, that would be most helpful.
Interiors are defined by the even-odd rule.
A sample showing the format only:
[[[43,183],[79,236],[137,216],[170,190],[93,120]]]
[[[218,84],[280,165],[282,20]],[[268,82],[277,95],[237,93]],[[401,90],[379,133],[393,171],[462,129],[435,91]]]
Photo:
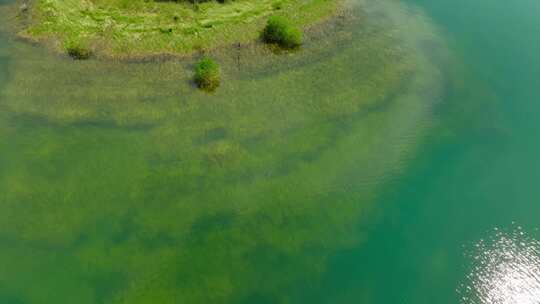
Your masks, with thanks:
[[[1,90],[0,297],[294,302],[291,286],[362,241],[366,180],[411,153],[389,145],[422,132],[438,94],[415,47],[430,27],[398,39],[388,33],[409,28],[385,13],[304,56],[212,54],[227,77],[216,94],[195,92],[181,61],[75,64],[15,42]]]

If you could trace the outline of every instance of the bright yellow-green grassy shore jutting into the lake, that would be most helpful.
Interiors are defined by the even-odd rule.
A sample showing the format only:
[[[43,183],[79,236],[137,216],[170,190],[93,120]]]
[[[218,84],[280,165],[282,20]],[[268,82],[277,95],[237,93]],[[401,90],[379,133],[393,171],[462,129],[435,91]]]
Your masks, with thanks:
[[[188,55],[256,40],[270,15],[307,27],[335,13],[341,0],[31,0],[21,35],[59,51],[99,56]]]

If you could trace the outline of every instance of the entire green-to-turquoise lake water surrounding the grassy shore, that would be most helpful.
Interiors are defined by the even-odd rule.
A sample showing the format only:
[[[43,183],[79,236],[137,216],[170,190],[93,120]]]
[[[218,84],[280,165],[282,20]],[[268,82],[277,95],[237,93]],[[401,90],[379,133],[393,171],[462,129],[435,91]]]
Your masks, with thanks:
[[[0,33],[0,303],[540,303],[539,2],[348,6],[210,95]]]

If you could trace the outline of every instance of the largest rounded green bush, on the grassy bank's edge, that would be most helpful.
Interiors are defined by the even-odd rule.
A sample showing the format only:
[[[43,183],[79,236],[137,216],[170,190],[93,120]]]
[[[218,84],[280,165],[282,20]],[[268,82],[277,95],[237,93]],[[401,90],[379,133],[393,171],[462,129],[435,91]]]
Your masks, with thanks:
[[[283,48],[296,48],[302,44],[302,32],[282,16],[270,17],[262,36],[266,43],[275,43]]]

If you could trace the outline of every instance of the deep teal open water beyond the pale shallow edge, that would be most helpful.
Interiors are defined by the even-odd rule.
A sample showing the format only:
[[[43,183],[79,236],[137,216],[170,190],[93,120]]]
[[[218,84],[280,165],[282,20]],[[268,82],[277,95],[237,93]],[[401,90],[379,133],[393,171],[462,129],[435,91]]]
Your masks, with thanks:
[[[437,112],[455,133],[446,139],[434,133],[388,186],[370,240],[336,256],[328,282],[335,283],[335,294],[373,287],[373,303],[538,303],[540,3],[408,2],[442,28],[464,62],[467,75],[457,77],[466,92],[449,92]],[[473,109],[486,93],[492,100]],[[508,249],[505,238],[535,253]],[[489,274],[490,261],[514,259],[525,266],[479,274]],[[501,279],[505,275],[512,279]],[[486,293],[486,286],[495,292]]]

